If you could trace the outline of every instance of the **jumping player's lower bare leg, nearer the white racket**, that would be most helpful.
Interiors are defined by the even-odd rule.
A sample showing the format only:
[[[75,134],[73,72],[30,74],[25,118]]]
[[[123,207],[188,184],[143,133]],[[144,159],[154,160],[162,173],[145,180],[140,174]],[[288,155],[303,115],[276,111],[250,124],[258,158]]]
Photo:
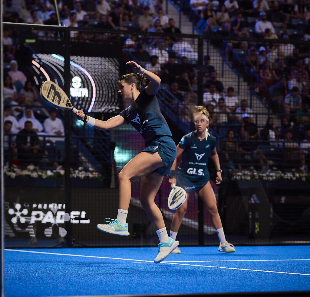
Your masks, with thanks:
[[[141,178],[140,202],[155,230],[165,227],[162,212],[154,201],[163,178],[158,173],[150,173]]]

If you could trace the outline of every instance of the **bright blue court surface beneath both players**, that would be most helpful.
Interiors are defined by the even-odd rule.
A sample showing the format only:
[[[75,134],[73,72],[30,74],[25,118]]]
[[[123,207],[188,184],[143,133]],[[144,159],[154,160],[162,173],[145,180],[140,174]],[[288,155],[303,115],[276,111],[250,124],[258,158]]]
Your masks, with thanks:
[[[6,249],[5,296],[310,291],[310,246]]]

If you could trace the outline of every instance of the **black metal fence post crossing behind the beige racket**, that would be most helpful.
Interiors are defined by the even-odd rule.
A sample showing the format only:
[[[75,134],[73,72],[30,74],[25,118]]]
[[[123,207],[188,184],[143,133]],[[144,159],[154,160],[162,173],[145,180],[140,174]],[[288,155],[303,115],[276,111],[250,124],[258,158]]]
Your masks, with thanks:
[[[70,30],[64,32],[64,91],[70,98]],[[71,110],[65,110],[64,117],[64,191],[66,195],[66,213],[71,212],[71,185],[70,185],[70,118]],[[67,245],[72,247],[72,228],[71,222],[67,222]]]

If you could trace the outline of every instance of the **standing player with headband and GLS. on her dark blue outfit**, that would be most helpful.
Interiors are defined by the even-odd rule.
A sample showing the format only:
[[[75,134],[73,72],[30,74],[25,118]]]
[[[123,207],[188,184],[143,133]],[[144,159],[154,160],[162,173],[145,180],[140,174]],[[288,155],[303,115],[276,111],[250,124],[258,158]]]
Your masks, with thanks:
[[[206,204],[207,210],[211,215],[212,223],[219,237],[220,252],[235,252],[235,248],[225,239],[224,230],[216,206],[216,198],[210,184],[210,174],[208,171],[208,159],[211,159],[217,170],[216,184],[222,182],[221,167],[219,156],[216,152],[216,141],[208,132],[209,112],[204,106],[196,106],[193,113],[196,130],[184,135],[177,145],[177,154],[171,166],[169,183],[171,187],[175,184],[182,187],[187,193],[196,191]],[[176,172],[176,160],[182,155],[179,170]],[[182,219],[187,209],[188,199],[185,200],[176,211],[171,222],[170,237],[176,239]],[[173,251],[180,254],[179,248]]]

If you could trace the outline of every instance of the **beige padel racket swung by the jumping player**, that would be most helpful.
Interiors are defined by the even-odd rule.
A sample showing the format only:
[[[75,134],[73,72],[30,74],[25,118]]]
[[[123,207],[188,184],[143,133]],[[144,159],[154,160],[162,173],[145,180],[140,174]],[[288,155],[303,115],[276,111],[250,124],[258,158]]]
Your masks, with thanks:
[[[77,112],[64,90],[52,81],[45,81],[40,88],[41,97],[54,108],[69,109]]]

